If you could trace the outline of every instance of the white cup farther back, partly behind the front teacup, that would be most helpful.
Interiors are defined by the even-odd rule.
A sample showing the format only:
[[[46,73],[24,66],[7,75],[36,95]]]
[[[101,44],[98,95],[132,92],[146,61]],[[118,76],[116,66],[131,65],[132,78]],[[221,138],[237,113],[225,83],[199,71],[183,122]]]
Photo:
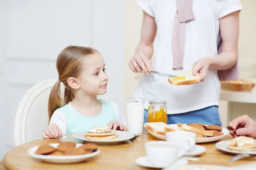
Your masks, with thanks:
[[[166,141],[173,144],[179,144],[186,149],[191,150],[195,146],[196,134],[189,131],[171,131],[166,133]]]

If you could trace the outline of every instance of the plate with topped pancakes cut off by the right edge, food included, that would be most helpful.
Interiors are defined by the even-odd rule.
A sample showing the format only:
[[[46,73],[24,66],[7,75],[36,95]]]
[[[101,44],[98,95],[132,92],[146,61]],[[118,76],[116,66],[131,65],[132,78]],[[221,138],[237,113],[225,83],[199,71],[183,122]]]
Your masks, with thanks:
[[[216,143],[215,147],[229,153],[256,155],[256,139],[248,136],[239,136],[230,140],[221,141]]]

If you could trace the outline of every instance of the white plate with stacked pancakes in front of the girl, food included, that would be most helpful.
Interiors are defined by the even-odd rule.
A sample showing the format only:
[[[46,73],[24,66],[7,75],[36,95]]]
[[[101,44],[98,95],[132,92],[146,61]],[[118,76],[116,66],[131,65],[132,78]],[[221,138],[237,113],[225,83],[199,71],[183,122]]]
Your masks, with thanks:
[[[97,126],[86,132],[74,133],[76,139],[95,144],[119,144],[134,137],[133,133],[111,130],[108,126]]]

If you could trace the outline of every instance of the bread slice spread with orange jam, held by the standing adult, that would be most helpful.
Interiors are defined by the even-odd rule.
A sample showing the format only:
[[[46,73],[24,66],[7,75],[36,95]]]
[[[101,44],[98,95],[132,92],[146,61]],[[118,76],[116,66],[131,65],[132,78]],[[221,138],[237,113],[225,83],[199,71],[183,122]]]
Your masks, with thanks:
[[[192,85],[200,82],[200,76],[197,74],[194,76],[192,71],[186,71],[181,74],[177,74],[177,77],[168,77],[168,81],[171,85]]]

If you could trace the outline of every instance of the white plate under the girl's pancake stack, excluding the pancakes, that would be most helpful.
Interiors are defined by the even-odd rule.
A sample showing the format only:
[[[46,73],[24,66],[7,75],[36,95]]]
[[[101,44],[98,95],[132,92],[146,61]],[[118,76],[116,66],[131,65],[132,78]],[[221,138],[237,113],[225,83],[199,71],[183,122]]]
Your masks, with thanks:
[[[73,136],[76,139],[80,139],[82,141],[90,142],[90,143],[95,143],[95,144],[119,144],[119,143],[125,142],[127,140],[130,140],[130,139],[132,139],[134,137],[134,134],[131,133],[131,132],[125,132],[125,131],[121,131],[121,130],[116,130],[116,135],[119,136],[119,139],[111,139],[111,140],[99,141],[99,140],[87,139],[85,137],[85,133],[86,132],[79,132],[79,133],[73,134]]]

